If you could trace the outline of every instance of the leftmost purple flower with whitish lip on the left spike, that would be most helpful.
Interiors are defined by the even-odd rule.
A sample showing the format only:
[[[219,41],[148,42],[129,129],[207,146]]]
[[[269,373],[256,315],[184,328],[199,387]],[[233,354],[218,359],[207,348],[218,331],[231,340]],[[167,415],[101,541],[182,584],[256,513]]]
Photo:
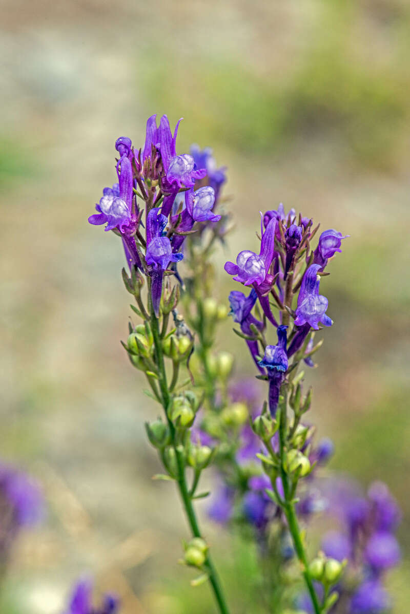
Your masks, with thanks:
[[[116,149],[121,157],[117,164],[117,174],[119,184],[114,184],[112,188],[104,188],[100,203],[95,205],[98,213],[89,217],[90,224],[101,225],[107,223],[105,230],[119,228],[121,233],[135,232],[132,216],[132,166],[128,153],[130,152],[131,141],[125,136],[116,141]]]

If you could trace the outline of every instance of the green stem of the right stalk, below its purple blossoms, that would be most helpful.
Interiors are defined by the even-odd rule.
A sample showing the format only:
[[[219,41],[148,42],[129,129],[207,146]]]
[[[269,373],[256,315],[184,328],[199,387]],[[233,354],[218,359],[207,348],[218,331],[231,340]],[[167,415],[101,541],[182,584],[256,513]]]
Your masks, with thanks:
[[[298,516],[296,515],[296,511],[294,509],[293,496],[288,482],[288,475],[283,466],[286,442],[286,408],[287,396],[285,394],[283,398],[283,403],[280,406],[279,422],[280,473],[282,477],[283,492],[285,494],[285,505],[283,506],[283,511],[285,512],[286,519],[288,520],[288,526],[293,539],[293,545],[296,551],[296,555],[298,556],[299,562],[302,565],[302,573],[306,582],[307,590],[309,591],[310,599],[312,600],[313,609],[315,611],[315,614],[321,614],[321,607],[319,605],[315,587],[313,586],[313,581],[309,573],[309,563],[307,562],[306,551],[301,538],[301,530],[299,529]]]

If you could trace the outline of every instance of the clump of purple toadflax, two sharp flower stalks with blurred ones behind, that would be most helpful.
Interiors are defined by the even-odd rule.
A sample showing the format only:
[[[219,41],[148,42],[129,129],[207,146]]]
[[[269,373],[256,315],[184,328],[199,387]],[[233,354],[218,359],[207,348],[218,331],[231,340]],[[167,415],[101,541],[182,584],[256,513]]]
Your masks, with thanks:
[[[316,441],[306,421],[312,391],[302,368],[314,366],[322,343],[317,331],[333,324],[320,292],[346,236],[319,233],[310,217],[285,213],[282,204],[261,212],[256,251],[241,251],[224,266],[242,286],[229,294],[230,315],[256,375],[235,383],[234,357],[215,348],[229,310],[228,301],[213,296],[211,262],[229,230],[226,170],[210,149],[194,145],[190,153],[177,153],[178,125],[172,133],[166,115],[159,125],[153,115],[144,144],[117,139],[117,182],[104,188],[89,222],[106,224],[124,247],[122,277],[138,322],[129,324],[122,344],[162,410],[146,432],[164,467],[156,478],[175,482],[189,525],[181,562],[199,572],[191,584],[208,581],[218,611],[229,612],[195,511],[195,501],[210,495],[199,484],[213,465],[219,484],[208,513],[219,523],[245,527],[256,543],[264,611],[384,612],[382,573],[399,558],[396,505],[386,487],[375,484],[363,505],[357,497],[341,513],[347,497],[335,503],[333,487],[326,492],[322,480],[333,445]],[[312,558],[306,521],[325,507],[344,528],[325,535]]]

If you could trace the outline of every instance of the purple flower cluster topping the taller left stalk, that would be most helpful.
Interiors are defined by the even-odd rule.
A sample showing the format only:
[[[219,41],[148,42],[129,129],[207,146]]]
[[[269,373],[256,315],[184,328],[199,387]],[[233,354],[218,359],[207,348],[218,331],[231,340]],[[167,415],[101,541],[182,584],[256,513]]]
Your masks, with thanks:
[[[179,122],[172,134],[167,115],[159,126],[152,115],[143,147],[135,149],[124,136],[117,139],[118,182],[104,188],[98,213],[89,217],[90,223],[106,224],[106,231],[122,238],[130,270],[136,268],[149,279],[157,316],[164,276],[178,276],[176,263],[183,258],[184,239],[195,231],[195,223],[221,219],[213,209],[224,171],[213,168],[210,150],[196,147],[192,155],[176,153],[178,126]],[[182,199],[179,193],[184,193]]]

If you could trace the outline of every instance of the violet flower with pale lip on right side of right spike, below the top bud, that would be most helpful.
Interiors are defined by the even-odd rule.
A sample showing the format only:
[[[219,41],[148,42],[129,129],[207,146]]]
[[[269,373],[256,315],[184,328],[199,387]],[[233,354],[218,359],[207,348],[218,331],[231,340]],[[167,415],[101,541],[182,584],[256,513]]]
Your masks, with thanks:
[[[296,326],[310,324],[312,328],[318,330],[320,322],[325,326],[333,324],[325,313],[328,308],[328,299],[319,294],[319,269],[320,265],[310,265],[303,276],[294,321]]]

